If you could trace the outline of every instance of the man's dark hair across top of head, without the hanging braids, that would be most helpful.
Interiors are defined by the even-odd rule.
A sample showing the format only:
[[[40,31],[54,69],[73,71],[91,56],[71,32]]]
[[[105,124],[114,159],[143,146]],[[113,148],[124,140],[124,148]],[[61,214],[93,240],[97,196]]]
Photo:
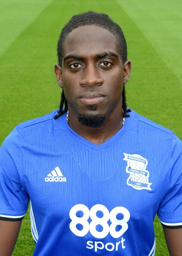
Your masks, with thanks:
[[[82,14],[74,15],[62,29],[57,48],[59,65],[62,66],[63,43],[67,35],[73,29],[86,25],[103,27],[104,29],[110,31],[116,37],[118,42],[118,50],[124,64],[127,60],[127,46],[122,29],[107,14],[89,11]]]

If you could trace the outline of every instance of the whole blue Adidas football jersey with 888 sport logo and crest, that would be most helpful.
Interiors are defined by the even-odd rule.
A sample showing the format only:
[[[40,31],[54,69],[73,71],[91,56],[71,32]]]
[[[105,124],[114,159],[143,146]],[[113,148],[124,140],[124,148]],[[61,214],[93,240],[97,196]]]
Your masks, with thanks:
[[[181,140],[132,110],[95,145],[56,112],[2,144],[0,219],[22,219],[30,201],[34,256],[154,255],[155,214],[182,227]]]

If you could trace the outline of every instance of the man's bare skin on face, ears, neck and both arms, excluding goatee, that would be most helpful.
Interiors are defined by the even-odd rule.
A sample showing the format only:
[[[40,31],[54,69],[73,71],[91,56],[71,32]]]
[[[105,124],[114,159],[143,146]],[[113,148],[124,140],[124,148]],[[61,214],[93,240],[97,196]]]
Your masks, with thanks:
[[[117,41],[106,29],[83,26],[68,34],[64,42],[62,68],[55,65],[58,84],[68,102],[69,125],[83,138],[100,144],[122,128],[122,89],[131,62],[122,63]],[[95,110],[89,108],[96,105]],[[78,122],[78,113],[106,114],[99,128]],[[0,255],[11,256],[21,221],[0,220]],[[170,256],[182,256],[182,228],[164,228]]]

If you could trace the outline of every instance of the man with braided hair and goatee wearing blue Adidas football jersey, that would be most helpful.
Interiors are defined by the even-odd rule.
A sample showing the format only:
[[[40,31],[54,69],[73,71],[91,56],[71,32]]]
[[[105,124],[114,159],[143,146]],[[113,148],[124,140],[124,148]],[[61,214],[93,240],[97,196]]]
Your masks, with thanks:
[[[28,200],[33,255],[154,255],[156,213],[170,255],[182,255],[182,143],[126,108],[122,30],[105,14],[75,15],[58,60],[59,110],[18,125],[0,150],[0,255]]]

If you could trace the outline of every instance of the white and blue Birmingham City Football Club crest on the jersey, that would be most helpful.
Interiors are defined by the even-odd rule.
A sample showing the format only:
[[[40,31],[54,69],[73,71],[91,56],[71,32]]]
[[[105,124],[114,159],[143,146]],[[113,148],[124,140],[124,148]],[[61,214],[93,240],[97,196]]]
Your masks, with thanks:
[[[126,172],[130,174],[127,179],[127,185],[134,189],[148,189],[151,190],[149,182],[149,171],[146,170],[147,159],[141,155],[124,154],[124,159],[127,161]]]

